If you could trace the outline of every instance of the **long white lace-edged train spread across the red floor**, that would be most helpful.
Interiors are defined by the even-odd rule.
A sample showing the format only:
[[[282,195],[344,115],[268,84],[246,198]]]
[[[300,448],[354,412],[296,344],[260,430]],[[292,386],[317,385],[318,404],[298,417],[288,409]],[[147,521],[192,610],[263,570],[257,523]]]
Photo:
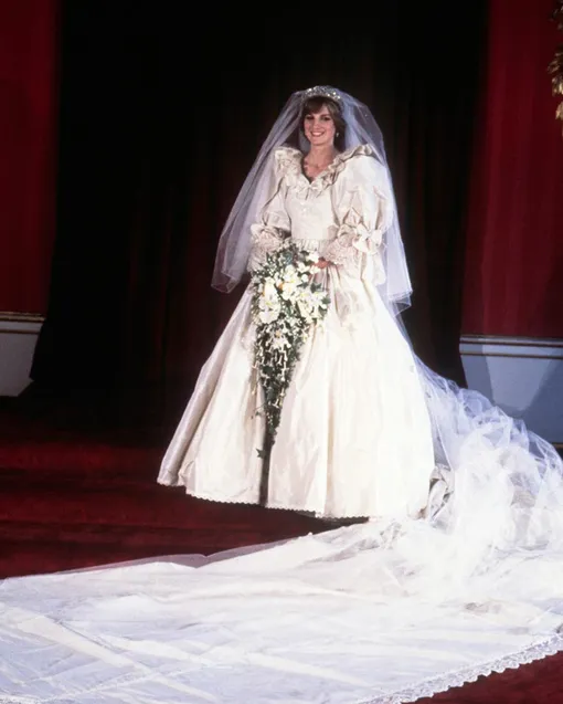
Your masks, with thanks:
[[[0,702],[408,702],[562,649],[563,553],[468,547],[372,522],[6,580]]]

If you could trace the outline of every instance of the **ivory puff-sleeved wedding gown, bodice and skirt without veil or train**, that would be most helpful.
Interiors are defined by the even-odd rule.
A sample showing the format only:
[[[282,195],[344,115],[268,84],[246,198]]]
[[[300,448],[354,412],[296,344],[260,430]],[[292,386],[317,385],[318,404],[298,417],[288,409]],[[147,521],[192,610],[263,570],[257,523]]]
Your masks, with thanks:
[[[251,266],[291,237],[334,262],[331,306],[304,346],[270,458],[267,505],[318,516],[416,516],[426,506],[434,449],[413,354],[373,281],[384,280],[389,227],[381,166],[367,146],[340,154],[311,182],[301,154],[280,148],[253,227]],[[371,271],[376,269],[376,274]],[[264,417],[247,290],[164,456],[159,482],[223,502],[257,503]]]

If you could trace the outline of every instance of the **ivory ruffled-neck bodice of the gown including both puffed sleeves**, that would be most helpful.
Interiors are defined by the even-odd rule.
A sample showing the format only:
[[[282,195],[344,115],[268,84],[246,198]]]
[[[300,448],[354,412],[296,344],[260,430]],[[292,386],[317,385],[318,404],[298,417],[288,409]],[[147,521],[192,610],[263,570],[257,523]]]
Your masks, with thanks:
[[[342,151],[310,181],[299,150],[280,147],[274,157],[274,188],[251,228],[249,269],[290,237],[355,276],[369,270],[381,283],[385,274],[380,245],[393,209],[373,149],[358,145]]]

